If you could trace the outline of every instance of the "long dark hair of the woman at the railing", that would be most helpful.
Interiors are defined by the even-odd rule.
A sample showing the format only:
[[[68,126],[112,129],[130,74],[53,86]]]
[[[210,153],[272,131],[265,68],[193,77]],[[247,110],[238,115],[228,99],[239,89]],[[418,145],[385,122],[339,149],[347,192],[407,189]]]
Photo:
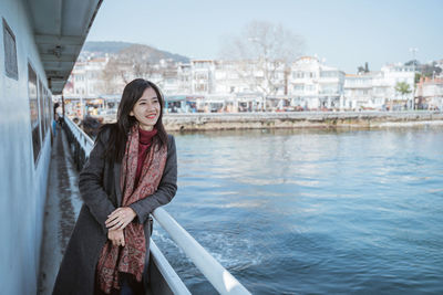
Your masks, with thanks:
[[[131,110],[133,110],[135,103],[142,97],[143,93],[147,88],[153,88],[157,98],[159,101],[159,116],[157,123],[154,125],[154,128],[157,129],[157,135],[161,146],[167,145],[167,133],[165,127],[163,126],[162,117],[163,117],[163,107],[165,99],[163,97],[162,92],[151,81],[144,78],[136,78],[130,82],[123,89],[122,99],[119,105],[117,110],[117,122],[114,124],[104,125],[99,133],[97,140],[103,138],[103,135],[109,130],[109,139],[105,143],[105,152],[104,157],[110,160],[114,160],[121,162],[123,156],[125,154],[127,135],[131,131],[131,128],[137,124],[137,120],[134,116],[130,116]]]

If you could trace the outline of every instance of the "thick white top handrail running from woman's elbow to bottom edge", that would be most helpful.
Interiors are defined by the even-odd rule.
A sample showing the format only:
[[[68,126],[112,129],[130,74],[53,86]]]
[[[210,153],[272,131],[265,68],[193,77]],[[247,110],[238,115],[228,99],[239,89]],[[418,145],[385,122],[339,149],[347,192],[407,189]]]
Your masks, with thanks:
[[[155,209],[153,217],[220,294],[250,294],[165,209]]]

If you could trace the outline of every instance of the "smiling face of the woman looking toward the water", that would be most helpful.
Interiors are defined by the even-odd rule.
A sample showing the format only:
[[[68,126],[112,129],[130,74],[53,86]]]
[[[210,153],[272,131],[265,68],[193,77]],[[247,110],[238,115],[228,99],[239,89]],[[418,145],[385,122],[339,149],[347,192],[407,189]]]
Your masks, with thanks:
[[[140,128],[143,130],[152,130],[159,117],[161,106],[159,98],[153,88],[146,88],[142,97],[135,103],[130,116],[134,116]]]

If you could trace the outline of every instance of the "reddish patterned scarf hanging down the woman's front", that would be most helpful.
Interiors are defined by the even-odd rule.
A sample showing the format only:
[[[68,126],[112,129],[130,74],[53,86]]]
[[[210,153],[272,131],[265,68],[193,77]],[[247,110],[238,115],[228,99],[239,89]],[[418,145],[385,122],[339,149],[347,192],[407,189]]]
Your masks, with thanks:
[[[166,164],[167,147],[161,147],[158,137],[155,137],[143,164],[138,186],[135,188],[138,137],[138,127],[134,126],[127,138],[126,150],[122,160],[120,178],[123,192],[122,207],[127,207],[153,194],[158,188]],[[103,246],[97,264],[97,283],[104,293],[110,294],[112,288],[120,289],[119,273],[130,273],[138,282],[142,281],[146,255],[146,240],[143,229],[144,224],[131,222],[123,230],[125,246],[114,246],[111,241],[107,241]]]

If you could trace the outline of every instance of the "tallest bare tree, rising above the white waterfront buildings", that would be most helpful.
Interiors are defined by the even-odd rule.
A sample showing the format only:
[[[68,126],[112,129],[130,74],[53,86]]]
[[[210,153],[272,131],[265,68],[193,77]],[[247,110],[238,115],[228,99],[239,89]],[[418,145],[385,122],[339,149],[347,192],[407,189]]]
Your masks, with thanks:
[[[265,96],[279,89],[287,94],[291,63],[303,48],[300,36],[282,25],[253,21],[224,44],[222,59],[235,63],[238,78],[250,91]]]

